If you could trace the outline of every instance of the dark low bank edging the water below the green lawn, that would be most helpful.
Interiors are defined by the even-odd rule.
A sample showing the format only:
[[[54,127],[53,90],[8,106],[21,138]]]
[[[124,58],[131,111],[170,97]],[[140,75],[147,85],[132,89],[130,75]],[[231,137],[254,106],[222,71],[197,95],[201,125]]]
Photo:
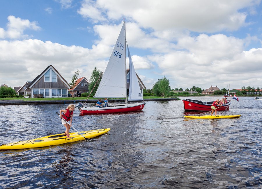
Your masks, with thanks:
[[[177,100],[177,98],[162,98],[162,99],[144,99],[143,101],[170,101],[170,100]],[[85,100],[37,100],[37,101],[23,101],[23,100],[1,100],[0,106],[6,105],[27,105],[27,104],[75,104],[82,102],[84,103]],[[86,103],[95,103],[97,99],[89,99]],[[119,100],[109,100],[109,102],[125,102],[125,99]],[[134,101],[129,101],[134,102]],[[139,101],[136,101],[139,102]],[[141,101],[142,102],[142,101]]]

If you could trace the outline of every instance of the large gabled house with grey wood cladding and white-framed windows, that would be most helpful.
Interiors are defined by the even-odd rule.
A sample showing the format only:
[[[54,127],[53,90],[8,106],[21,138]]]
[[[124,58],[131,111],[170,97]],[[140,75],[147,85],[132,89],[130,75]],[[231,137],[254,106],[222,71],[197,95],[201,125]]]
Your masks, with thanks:
[[[49,65],[30,83],[26,90],[31,91],[31,97],[68,97],[71,86],[59,74],[54,66]]]

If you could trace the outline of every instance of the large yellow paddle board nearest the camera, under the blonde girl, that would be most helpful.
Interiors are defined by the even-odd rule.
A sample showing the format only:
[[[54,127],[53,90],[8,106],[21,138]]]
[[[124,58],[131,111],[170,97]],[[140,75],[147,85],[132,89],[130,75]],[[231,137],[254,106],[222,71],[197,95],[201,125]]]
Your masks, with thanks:
[[[85,138],[94,138],[99,135],[105,134],[110,129],[96,129],[91,131],[81,131],[80,133],[84,135]],[[68,142],[75,142],[79,140],[85,140],[80,134],[76,133],[69,133],[70,137],[66,138],[64,133],[56,134],[56,135],[49,135],[42,138],[36,138],[32,140],[24,140],[18,142],[11,142],[8,144],[3,144],[0,146],[0,150],[9,150],[9,149],[25,149],[25,148],[39,148],[45,146],[52,146],[52,145],[61,145]]]

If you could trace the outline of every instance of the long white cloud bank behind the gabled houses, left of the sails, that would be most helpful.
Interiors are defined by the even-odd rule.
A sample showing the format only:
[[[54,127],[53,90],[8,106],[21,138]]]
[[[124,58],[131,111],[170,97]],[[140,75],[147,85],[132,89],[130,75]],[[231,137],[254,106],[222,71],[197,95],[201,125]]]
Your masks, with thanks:
[[[81,76],[89,79],[95,66],[104,70],[107,64],[107,61],[97,58],[93,49],[36,39],[0,41],[0,57],[0,81],[12,87],[32,81],[49,65],[53,65],[69,82],[77,69],[80,69]]]

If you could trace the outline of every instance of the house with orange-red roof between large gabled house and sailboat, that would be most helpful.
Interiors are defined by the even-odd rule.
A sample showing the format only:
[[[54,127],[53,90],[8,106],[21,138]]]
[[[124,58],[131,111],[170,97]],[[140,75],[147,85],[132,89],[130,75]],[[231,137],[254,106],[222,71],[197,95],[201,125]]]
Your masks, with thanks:
[[[75,86],[72,89],[69,89],[68,91],[72,96],[80,97],[80,93],[89,92],[89,84],[90,83],[87,81],[85,77],[81,77],[77,79],[77,81],[75,82]]]

